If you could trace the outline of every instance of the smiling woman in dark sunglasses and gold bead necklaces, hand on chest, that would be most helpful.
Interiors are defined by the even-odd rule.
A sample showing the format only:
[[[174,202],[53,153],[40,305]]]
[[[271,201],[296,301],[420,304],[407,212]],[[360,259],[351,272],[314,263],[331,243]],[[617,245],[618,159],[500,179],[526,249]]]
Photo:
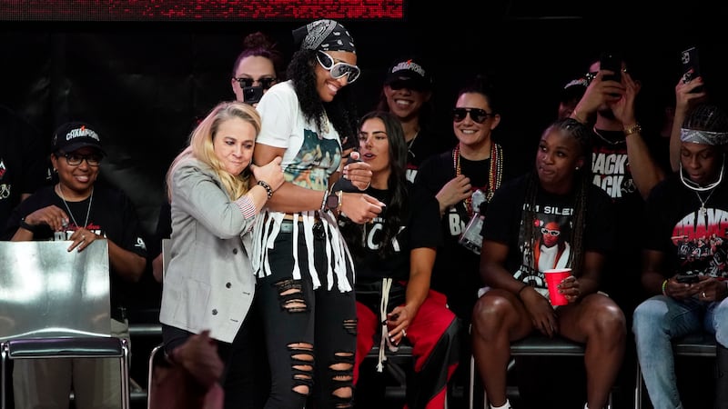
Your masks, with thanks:
[[[480,229],[475,224],[480,223],[484,205],[506,178],[503,149],[491,138],[501,122],[499,102],[495,88],[482,76],[460,89],[451,114],[459,143],[426,160],[416,179],[436,195],[445,237],[431,286],[446,294],[450,308],[465,320],[470,320],[481,286]],[[470,234],[465,234],[470,221]]]

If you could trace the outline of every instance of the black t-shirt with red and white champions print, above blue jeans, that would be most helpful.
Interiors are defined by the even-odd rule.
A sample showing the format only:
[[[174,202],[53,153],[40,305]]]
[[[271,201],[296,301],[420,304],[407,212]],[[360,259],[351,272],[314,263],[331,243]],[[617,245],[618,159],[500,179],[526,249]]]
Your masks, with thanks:
[[[728,278],[728,184],[696,192],[673,174],[652,189],[644,217],[644,247],[665,254],[666,276]]]

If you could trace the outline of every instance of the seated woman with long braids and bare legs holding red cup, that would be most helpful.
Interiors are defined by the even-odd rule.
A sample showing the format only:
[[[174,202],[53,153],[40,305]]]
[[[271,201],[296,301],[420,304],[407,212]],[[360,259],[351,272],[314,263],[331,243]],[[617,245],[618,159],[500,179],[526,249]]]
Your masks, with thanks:
[[[612,205],[591,183],[588,128],[567,118],[541,135],[533,172],[501,186],[488,205],[480,275],[487,285],[473,309],[472,348],[492,408],[510,408],[510,345],[538,331],[586,344],[584,407],[602,408],[622,365],[625,318],[600,274],[613,243]],[[559,229],[548,228],[558,224]],[[558,232],[571,247],[572,275],[560,284],[569,304],[552,306],[534,246]],[[554,258],[554,262],[556,259]]]

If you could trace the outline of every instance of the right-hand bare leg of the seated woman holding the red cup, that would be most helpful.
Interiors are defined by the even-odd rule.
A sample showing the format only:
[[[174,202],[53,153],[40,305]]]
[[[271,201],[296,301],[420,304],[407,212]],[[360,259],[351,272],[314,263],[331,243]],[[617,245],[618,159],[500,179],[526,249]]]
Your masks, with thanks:
[[[561,307],[558,314],[561,334],[586,344],[587,400],[591,409],[602,408],[622,366],[627,336],[624,314],[602,294],[591,294],[579,304]]]

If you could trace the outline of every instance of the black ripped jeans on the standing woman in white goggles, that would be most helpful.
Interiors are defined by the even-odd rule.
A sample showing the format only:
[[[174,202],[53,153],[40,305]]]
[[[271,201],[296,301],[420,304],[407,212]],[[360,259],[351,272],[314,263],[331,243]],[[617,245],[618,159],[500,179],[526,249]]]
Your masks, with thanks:
[[[320,282],[316,290],[302,228],[296,249],[300,279],[293,278],[292,233],[280,232],[268,250],[272,274],[258,278],[256,294],[270,364],[266,409],[301,409],[309,394],[318,409],[352,404],[356,299],[353,291],[341,293],[336,284],[328,289],[331,278],[327,277],[326,245],[320,237],[314,240],[314,265]],[[353,283],[353,271],[348,269],[349,283]]]

